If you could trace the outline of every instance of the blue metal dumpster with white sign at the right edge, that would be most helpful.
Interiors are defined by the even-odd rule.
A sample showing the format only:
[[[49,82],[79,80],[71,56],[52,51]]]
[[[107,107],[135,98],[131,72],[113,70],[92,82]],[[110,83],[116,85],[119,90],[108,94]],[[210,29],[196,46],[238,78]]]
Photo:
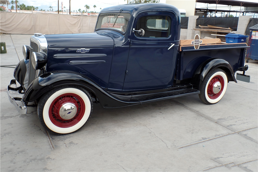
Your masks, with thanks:
[[[250,36],[248,41],[248,46],[246,50],[246,63],[249,59],[258,60],[258,24],[252,26],[250,29]]]

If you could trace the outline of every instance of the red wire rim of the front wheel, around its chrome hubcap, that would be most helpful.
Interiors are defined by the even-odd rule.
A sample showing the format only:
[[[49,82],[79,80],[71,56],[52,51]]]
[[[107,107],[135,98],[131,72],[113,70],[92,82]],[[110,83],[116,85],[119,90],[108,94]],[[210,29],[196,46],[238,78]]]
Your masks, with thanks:
[[[66,103],[75,105],[77,112],[71,119],[63,119],[60,114],[60,108]],[[77,94],[66,93],[57,97],[49,107],[49,118],[51,122],[61,128],[68,128],[76,125],[82,118],[85,112],[85,103]]]

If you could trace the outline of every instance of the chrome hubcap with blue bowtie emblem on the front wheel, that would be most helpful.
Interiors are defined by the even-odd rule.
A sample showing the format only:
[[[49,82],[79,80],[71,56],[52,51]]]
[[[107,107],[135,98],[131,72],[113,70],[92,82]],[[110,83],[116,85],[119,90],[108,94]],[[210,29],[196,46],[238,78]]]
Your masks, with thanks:
[[[77,113],[77,108],[73,103],[65,103],[59,110],[60,117],[68,120],[72,119]]]

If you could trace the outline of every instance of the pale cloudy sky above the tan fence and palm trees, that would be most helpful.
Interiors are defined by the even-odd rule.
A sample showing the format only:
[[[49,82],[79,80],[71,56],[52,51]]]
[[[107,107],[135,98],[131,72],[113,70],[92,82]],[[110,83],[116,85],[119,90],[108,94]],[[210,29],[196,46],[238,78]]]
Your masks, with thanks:
[[[182,0],[183,1],[183,0]],[[257,0],[241,0],[246,2],[257,2]],[[11,2],[11,0],[9,0]],[[53,11],[56,11],[57,6],[57,0],[19,0],[20,4],[27,5],[33,5],[35,7],[38,7],[38,10],[50,10],[49,6],[53,6]],[[63,2],[63,6],[66,7],[66,9],[69,9],[69,0],[59,0],[59,10],[61,10],[61,2]],[[166,0],[160,0],[160,3],[166,3]],[[85,10],[85,5],[90,6],[89,11],[94,11],[93,5],[96,5],[95,8],[96,12],[100,12],[100,8],[105,8],[109,6],[114,5],[120,5],[120,4],[126,4],[127,0],[71,0],[71,11],[78,11],[78,9]],[[12,5],[12,4],[11,4]],[[15,4],[14,4],[15,6]],[[204,7],[205,5],[203,3],[197,3],[196,7]],[[209,6],[215,6],[215,4],[209,4]],[[218,5],[223,6],[223,5]],[[10,7],[9,7],[10,9]]]

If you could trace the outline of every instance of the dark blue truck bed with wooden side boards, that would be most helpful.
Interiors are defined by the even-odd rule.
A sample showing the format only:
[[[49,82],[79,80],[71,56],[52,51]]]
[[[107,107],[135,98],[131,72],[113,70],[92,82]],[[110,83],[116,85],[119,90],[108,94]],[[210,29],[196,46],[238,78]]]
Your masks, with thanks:
[[[224,44],[219,38],[201,39],[203,44],[195,49],[193,40],[181,40],[176,69],[176,79],[192,78],[197,68],[206,60],[216,58],[227,61],[234,72],[244,66],[246,43]],[[190,44],[190,45],[189,45]]]

